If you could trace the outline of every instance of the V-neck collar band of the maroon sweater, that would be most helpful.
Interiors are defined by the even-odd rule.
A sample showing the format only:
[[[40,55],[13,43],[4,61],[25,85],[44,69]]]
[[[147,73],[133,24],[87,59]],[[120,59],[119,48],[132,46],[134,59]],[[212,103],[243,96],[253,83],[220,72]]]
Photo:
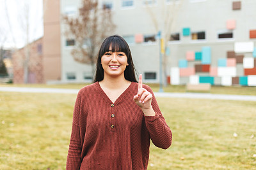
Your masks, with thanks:
[[[127,89],[124,90],[124,92],[122,94],[120,94],[120,96],[118,96],[118,98],[116,99],[115,103],[113,103],[111,101],[111,99],[109,99],[108,95],[104,92],[104,90],[100,87],[100,83],[99,81],[97,81],[95,83],[96,85],[96,89],[99,91],[99,93],[102,95],[102,97],[104,97],[104,99],[110,103],[110,104],[118,104],[120,101],[122,101],[122,99],[127,96],[127,94],[129,93],[130,89],[132,88],[132,86],[134,85],[134,82],[131,82],[131,84],[129,85],[129,87],[127,87]]]

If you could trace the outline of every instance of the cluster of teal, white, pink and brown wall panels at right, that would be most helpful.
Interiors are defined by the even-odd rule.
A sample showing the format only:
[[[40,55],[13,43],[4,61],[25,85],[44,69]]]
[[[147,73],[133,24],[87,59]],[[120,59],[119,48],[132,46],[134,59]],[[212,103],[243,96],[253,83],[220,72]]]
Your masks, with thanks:
[[[252,45],[250,41],[235,43],[234,51],[227,51],[214,63],[209,46],[202,46],[201,52],[187,51],[185,59],[179,60],[179,67],[171,69],[171,82],[173,85],[211,83],[256,86],[256,47]]]

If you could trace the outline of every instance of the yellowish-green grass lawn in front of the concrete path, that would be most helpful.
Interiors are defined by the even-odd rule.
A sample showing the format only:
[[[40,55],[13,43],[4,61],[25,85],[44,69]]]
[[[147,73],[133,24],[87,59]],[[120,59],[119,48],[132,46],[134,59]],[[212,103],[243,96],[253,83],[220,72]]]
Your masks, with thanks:
[[[65,169],[75,100],[0,92],[0,169]],[[256,169],[256,102],[157,101],[173,143],[151,145],[148,169]]]

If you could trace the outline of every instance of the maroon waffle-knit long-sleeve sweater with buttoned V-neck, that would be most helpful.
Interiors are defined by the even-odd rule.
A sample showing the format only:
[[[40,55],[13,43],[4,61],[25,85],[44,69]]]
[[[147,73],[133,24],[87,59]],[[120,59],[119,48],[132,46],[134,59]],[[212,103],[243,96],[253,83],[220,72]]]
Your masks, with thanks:
[[[172,132],[153,95],[156,116],[145,116],[133,101],[138,83],[131,85],[115,103],[99,82],[83,87],[74,106],[66,169],[147,169],[150,139],[160,148],[172,144]]]

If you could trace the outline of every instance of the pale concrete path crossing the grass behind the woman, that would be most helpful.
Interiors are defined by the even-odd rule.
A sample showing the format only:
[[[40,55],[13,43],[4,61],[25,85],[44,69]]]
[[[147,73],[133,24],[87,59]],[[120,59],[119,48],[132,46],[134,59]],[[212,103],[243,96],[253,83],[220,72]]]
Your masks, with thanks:
[[[0,87],[0,92],[77,94],[78,91],[79,91],[78,89]],[[244,95],[205,94],[205,93],[170,93],[170,92],[155,92],[154,94],[156,97],[191,98],[191,99],[221,99],[221,100],[232,100],[232,101],[256,101],[256,96],[244,96]]]

